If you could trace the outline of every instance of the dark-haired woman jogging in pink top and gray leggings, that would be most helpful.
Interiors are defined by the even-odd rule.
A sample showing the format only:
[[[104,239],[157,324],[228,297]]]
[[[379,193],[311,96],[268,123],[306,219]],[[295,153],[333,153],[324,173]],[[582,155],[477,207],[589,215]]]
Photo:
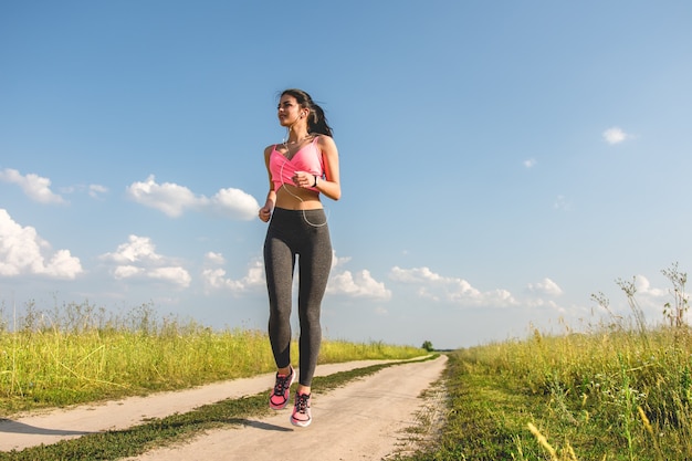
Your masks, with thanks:
[[[264,149],[269,193],[259,212],[264,222],[271,218],[264,241],[264,268],[269,337],[277,370],[270,407],[285,408],[295,379],[291,366],[291,289],[297,255],[301,376],[291,422],[306,427],[312,422],[311,386],[322,340],[319,311],[332,269],[332,243],[319,193],[333,200],[342,196],[338,151],[324,111],[307,93],[284,91],[277,111],[279,123],[286,127],[287,136],[282,144]]]

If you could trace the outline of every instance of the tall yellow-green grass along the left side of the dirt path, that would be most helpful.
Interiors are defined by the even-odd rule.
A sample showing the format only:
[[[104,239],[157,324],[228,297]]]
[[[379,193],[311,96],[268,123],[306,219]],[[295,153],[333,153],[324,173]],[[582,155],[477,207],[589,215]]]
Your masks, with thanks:
[[[114,315],[88,303],[51,311],[0,310],[0,416],[155,390],[180,389],[275,369],[264,332],[217,331],[158,317],[145,304]],[[297,346],[292,345],[297,358]],[[325,340],[321,363],[410,358],[420,348]]]

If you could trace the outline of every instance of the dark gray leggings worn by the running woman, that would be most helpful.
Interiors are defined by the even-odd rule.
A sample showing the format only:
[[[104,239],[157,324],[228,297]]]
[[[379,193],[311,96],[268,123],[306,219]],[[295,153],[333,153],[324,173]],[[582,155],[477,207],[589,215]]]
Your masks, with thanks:
[[[291,364],[291,289],[298,255],[298,366],[303,386],[312,384],[322,342],[319,311],[332,269],[332,241],[326,222],[322,209],[276,208],[264,240],[269,338],[279,368]]]

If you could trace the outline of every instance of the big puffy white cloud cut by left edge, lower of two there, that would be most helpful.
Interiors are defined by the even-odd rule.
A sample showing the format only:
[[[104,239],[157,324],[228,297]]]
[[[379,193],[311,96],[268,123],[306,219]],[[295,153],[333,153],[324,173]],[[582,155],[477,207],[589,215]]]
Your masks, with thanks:
[[[51,245],[32,227],[21,227],[0,209],[0,276],[22,274],[73,280],[83,272],[69,250],[51,254]]]

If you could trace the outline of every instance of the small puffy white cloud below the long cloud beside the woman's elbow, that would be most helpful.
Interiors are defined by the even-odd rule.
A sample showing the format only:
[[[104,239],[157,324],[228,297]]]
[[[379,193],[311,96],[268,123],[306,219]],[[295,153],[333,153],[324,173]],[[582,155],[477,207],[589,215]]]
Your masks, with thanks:
[[[156,253],[156,247],[148,237],[129,235],[115,252],[99,258],[114,263],[113,276],[117,280],[156,280],[181,289],[188,287],[192,281],[182,266]]]

